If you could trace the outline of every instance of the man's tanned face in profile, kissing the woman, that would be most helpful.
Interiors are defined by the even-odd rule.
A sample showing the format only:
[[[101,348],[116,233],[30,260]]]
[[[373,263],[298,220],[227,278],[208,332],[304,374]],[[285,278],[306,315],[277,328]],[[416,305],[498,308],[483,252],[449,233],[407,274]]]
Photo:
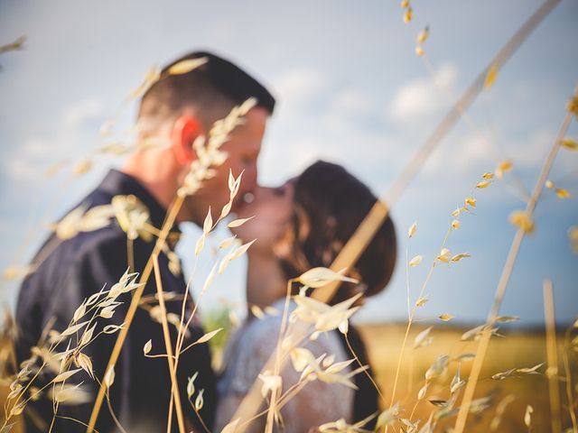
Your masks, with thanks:
[[[245,123],[237,126],[229,134],[228,142],[221,146],[221,150],[228,153],[227,161],[219,167],[211,167],[216,172],[215,177],[205,180],[200,190],[188,198],[185,204],[187,213],[197,225],[202,225],[209,207],[213,221],[216,221],[221,208],[228,203],[229,170],[235,178],[243,172],[238,194],[233,202],[233,212],[242,206],[243,196],[252,193],[256,188],[256,162],[261,152],[268,115],[265,108],[260,106],[252,108],[245,116]]]

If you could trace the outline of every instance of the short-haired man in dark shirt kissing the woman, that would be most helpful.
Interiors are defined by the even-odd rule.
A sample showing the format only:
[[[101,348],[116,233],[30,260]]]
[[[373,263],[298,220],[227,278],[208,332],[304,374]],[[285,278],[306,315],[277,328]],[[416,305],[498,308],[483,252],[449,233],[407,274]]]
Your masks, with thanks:
[[[182,65],[183,60],[205,58],[206,63],[196,69],[176,75],[169,73],[172,66]],[[150,216],[150,224],[160,229],[167,209],[190,171],[191,162],[197,158],[192,143],[200,135],[208,134],[215,121],[228,115],[231,108],[242,104],[249,97],[256,98],[256,106],[247,112],[244,123],[233,130],[228,142],[221,147],[221,150],[228,154],[227,160],[218,167],[212,167],[214,176],[203,182],[193,196],[185,198],[176,220],[192,221],[202,226],[209,207],[213,220],[217,220],[221,207],[229,199],[229,170],[236,177],[243,172],[237,200],[233,206],[235,210],[240,199],[256,186],[256,159],[261,149],[266,119],[273,113],[275,99],[246,72],[208,52],[193,52],[163,69],[160,78],[146,90],[140,103],[140,133],[137,141],[143,144],[140,146],[142,150],[131,155],[122,170],[111,170],[100,186],[82,200],[81,205],[94,208],[107,205],[114,197],[121,196],[116,199],[137,209],[145,207]],[[169,144],[146,149],[145,143],[152,141]],[[159,256],[163,290],[174,295],[166,300],[167,312],[169,315],[172,313],[173,318],[174,315],[181,316],[182,295],[186,294],[185,281],[171,266],[174,262],[169,260],[169,256],[173,256],[174,247],[171,240],[178,234],[178,229],[173,227],[166,248]],[[46,340],[46,336],[50,336],[47,332],[50,328],[62,332],[69,327],[75,312],[79,314],[78,308],[83,301],[98,293],[105,284],[106,289],[110,289],[129,265],[134,267],[130,272],[143,272],[153,252],[154,242],[155,238],[150,239],[144,235],[136,238],[131,247],[125,231],[116,220],[104,228],[79,233],[63,242],[55,240],[54,235],[51,236],[35,259],[42,262],[36,272],[23,281],[20,291],[16,311],[16,321],[20,328],[17,342],[18,360],[22,362],[28,359],[31,348],[38,345],[39,341]],[[53,245],[57,246],[54,248]],[[54,249],[51,251],[51,248]],[[165,353],[163,328],[154,313],[158,312],[158,297],[154,298],[155,293],[152,275],[144,289],[143,300],[146,301],[136,310],[117,361],[115,379],[108,390],[107,403],[99,412],[95,430],[100,433],[117,431],[117,422],[128,431],[166,430],[171,399],[167,358],[150,357]],[[88,401],[82,404],[69,404],[78,401],[62,401],[55,414],[51,396],[61,390],[62,384],[59,382],[56,386],[49,385],[38,400],[33,399],[28,403],[31,416],[25,418],[26,431],[48,431],[51,424],[51,431],[56,432],[86,430],[99,388],[97,381],[104,380],[107,362],[117,339],[114,332],[112,335],[98,333],[107,325],[123,324],[131,295],[128,292],[123,293],[117,300],[122,301],[122,304],[116,307],[112,317],[107,318],[108,314],[98,318],[98,327],[93,334],[97,337],[82,350],[82,353],[89,357],[96,380],[92,379],[89,373],[79,371],[66,381],[74,384],[82,382],[80,389],[88,389],[90,392],[90,398],[85,399]],[[189,317],[190,312],[189,304],[185,316]],[[174,347],[177,333],[173,325],[174,323],[171,325],[171,336]],[[178,323],[176,325],[178,326]],[[193,321],[182,346],[186,347],[196,341],[203,333],[200,325]],[[145,356],[144,345],[147,345],[149,340],[152,341],[153,349],[149,356]],[[65,349],[67,347],[59,346],[58,351]],[[33,349],[34,353],[37,354],[38,350]],[[86,358],[84,362],[75,359],[74,363],[71,369],[84,366],[86,370]],[[43,371],[48,370],[45,368]],[[186,392],[188,378],[197,372],[194,381],[196,391],[192,400],[194,402],[202,390],[204,404],[199,416],[191,409]],[[42,374],[33,386],[40,388],[53,377],[54,373]],[[200,431],[204,423],[211,428],[216,391],[208,345],[195,345],[182,354],[177,379],[187,427]],[[82,401],[81,398],[79,400]],[[173,431],[176,431],[176,425],[177,421],[173,416]]]

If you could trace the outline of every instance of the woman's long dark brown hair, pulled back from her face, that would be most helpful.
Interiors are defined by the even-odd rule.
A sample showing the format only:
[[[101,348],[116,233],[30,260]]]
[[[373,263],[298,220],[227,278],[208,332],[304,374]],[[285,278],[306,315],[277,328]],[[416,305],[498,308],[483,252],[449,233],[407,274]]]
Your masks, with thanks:
[[[368,187],[340,165],[317,161],[294,180],[293,224],[280,241],[280,255],[285,276],[291,279],[317,266],[330,267],[344,244],[378,201]],[[331,299],[335,304],[349,299],[357,291],[372,296],[383,290],[391,279],[396,264],[396,232],[387,217],[378,232],[354,263],[350,275],[360,283],[342,284]],[[359,331],[351,327],[347,336],[339,333],[341,345],[348,356],[353,352],[359,362],[368,365],[368,354]],[[353,404],[354,421],[368,418],[378,411],[378,392],[368,375],[354,378],[358,390]],[[366,428],[375,427],[375,419]]]

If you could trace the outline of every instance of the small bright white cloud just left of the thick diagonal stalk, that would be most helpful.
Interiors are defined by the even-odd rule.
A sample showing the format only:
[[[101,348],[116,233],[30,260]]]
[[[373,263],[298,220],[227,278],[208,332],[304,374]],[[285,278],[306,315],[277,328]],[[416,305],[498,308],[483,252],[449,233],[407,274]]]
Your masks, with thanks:
[[[408,82],[397,90],[388,108],[390,118],[399,123],[423,119],[449,105],[445,89],[451,89],[458,76],[452,63],[443,64],[432,78]]]

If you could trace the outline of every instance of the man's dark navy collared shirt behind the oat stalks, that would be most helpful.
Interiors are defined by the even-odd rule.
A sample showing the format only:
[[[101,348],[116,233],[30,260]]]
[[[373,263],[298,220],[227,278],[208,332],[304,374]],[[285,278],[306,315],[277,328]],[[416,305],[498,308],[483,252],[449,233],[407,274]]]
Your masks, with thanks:
[[[117,170],[111,170],[97,189],[92,191],[81,204],[88,207],[105,205],[117,195],[134,195],[150,213],[151,223],[160,228],[166,214],[156,199],[137,180]],[[141,238],[134,244],[135,272],[143,272],[145,263],[154,249],[154,240],[146,242]],[[19,362],[27,359],[31,354],[31,347],[38,344],[42,332],[47,324],[51,328],[62,331],[68,327],[75,310],[84,299],[98,292],[104,284],[110,288],[126,272],[127,248],[126,234],[117,225],[113,218],[111,224],[96,231],[80,233],[72,239],[59,242],[54,235],[44,244],[37,259],[42,257],[42,250],[49,251],[51,244],[56,248],[42,260],[42,263],[22,284],[16,309],[16,322],[20,335],[16,344]],[[36,260],[37,260],[36,259]],[[183,295],[186,293],[186,284],[182,276],[175,276],[169,270],[169,261],[164,253],[159,256],[163,290]],[[151,299],[156,293],[154,274],[149,278],[144,289],[144,297]],[[99,329],[106,325],[121,325],[130,304],[131,294],[121,295],[117,300],[123,304],[117,307],[112,318],[98,318]],[[181,296],[182,299],[182,296]],[[168,312],[181,316],[182,300],[166,302]],[[154,304],[156,305],[156,303]],[[187,313],[191,311],[191,299],[187,305]],[[188,314],[187,314],[188,317]],[[176,327],[171,327],[172,346],[176,341]],[[197,340],[203,330],[199,325],[191,324],[190,336],[185,340],[183,347]],[[164,354],[163,328],[154,321],[143,308],[136,311],[133,323],[127,333],[126,341],[115,368],[115,382],[110,388],[110,401],[115,415],[123,427],[128,431],[166,431],[169,400],[171,396],[171,379],[165,357],[149,358],[144,356],[143,347],[152,339],[153,350],[151,355]],[[94,367],[94,374],[99,381],[104,377],[108,358],[112,347],[117,340],[117,333],[102,334],[90,343],[83,353],[89,355]],[[65,349],[66,347],[61,347]],[[173,349],[174,350],[174,349]],[[76,368],[72,365],[71,368]],[[187,401],[187,378],[199,372],[195,380],[197,392],[204,390],[204,407],[200,415],[205,424],[211,428],[216,408],[215,376],[210,365],[210,351],[206,344],[195,345],[181,355],[177,376],[181,391],[182,410],[186,419],[189,419],[197,430],[201,430],[200,422],[190,403]],[[34,381],[34,386],[40,387],[54,377],[48,373]],[[83,371],[75,374],[68,382],[83,382],[82,386],[92,393],[92,401],[81,405],[63,405],[58,408],[55,419],[54,432],[86,431],[82,424],[64,419],[68,417],[89,422],[90,413],[98,392],[98,382],[91,379]],[[50,387],[49,387],[50,388]],[[47,388],[48,390],[48,388]],[[192,397],[193,401],[196,394]],[[53,416],[51,398],[43,395],[38,401],[29,403],[38,418],[50,425]],[[47,428],[38,428],[30,417],[25,418],[26,431],[47,431]],[[173,414],[172,426],[177,429],[176,416]],[[117,427],[107,408],[102,406],[96,429],[99,433],[117,431]]]

